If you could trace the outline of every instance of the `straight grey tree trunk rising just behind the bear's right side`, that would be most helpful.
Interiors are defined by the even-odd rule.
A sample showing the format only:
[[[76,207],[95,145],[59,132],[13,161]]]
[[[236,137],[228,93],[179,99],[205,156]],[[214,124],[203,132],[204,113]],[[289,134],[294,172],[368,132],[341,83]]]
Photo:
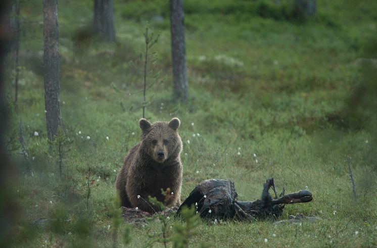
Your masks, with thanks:
[[[170,32],[174,97],[184,101],[189,96],[189,83],[187,82],[182,0],[170,0]]]

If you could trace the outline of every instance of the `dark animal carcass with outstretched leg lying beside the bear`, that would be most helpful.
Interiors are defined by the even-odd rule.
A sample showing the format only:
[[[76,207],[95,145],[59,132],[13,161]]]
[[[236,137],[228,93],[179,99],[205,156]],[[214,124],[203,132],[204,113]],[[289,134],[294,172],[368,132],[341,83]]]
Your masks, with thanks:
[[[272,199],[268,190],[274,191]],[[260,200],[238,201],[234,183],[228,180],[211,179],[198,184],[190,193],[189,197],[179,207],[179,215],[183,207],[197,208],[197,214],[203,218],[227,219],[237,218],[239,220],[263,219],[266,217],[278,217],[282,214],[285,204],[307,203],[313,197],[310,191],[300,190],[295,193],[284,195],[285,189],[277,197],[273,178],[266,180],[263,185]]]

